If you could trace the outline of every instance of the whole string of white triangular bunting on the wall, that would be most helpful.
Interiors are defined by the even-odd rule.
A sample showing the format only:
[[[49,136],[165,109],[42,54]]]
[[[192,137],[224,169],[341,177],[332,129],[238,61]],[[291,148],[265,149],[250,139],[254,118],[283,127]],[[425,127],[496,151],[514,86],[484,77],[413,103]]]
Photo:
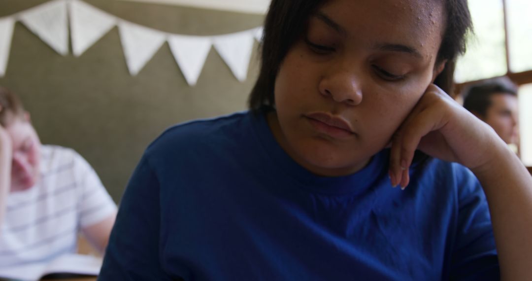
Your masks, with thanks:
[[[76,57],[83,55],[118,26],[127,69],[132,76],[138,75],[161,46],[168,42],[190,86],[196,85],[211,47],[220,54],[236,79],[245,81],[254,40],[262,38],[262,27],[215,36],[171,34],[120,19],[81,0],[52,0],[0,18],[0,77],[6,73],[16,21],[63,56],[69,54],[70,30],[72,54]]]

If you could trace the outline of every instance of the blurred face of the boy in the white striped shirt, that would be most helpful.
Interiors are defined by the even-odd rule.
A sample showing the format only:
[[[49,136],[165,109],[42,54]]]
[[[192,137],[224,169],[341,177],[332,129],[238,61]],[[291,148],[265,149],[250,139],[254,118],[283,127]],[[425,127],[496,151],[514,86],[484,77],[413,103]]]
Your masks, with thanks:
[[[10,191],[24,191],[39,178],[40,140],[27,120],[16,119],[5,129],[13,145]]]

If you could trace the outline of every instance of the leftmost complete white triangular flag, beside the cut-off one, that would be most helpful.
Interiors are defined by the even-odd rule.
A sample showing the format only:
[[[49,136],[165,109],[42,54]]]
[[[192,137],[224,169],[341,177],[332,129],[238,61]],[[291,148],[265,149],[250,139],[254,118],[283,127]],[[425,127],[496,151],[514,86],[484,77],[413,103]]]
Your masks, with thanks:
[[[66,2],[56,0],[28,9],[20,20],[57,53],[68,54]]]

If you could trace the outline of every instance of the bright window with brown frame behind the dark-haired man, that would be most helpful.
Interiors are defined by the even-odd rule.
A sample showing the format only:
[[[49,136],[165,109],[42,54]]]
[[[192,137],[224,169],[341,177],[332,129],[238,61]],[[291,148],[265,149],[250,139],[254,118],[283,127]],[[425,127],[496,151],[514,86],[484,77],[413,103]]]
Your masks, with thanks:
[[[458,94],[469,84],[508,76],[519,88],[519,150],[532,167],[532,1],[468,0],[475,36],[456,64]],[[458,97],[460,99],[460,97]]]

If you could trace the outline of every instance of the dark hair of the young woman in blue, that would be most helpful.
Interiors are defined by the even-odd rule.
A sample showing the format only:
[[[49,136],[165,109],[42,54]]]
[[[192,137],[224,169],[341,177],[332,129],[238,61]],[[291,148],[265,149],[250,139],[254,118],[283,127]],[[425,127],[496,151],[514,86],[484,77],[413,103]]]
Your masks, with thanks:
[[[455,59],[465,52],[465,37],[472,31],[467,0],[445,1],[446,27],[437,62],[447,61],[445,69],[434,84],[451,93]],[[251,91],[248,105],[251,110],[272,110],[275,105],[273,88],[280,64],[290,47],[305,31],[307,20],[326,0],[272,0],[264,21],[261,43],[261,68],[259,78]]]

